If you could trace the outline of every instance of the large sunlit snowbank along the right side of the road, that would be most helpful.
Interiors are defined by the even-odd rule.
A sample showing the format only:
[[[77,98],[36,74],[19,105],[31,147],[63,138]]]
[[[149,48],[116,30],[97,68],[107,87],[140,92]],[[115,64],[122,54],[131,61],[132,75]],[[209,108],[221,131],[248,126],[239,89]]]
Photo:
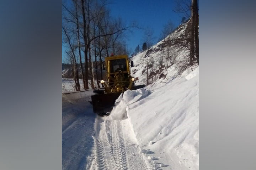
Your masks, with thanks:
[[[198,169],[198,70],[158,81],[152,92],[128,90],[111,112],[112,120],[128,117],[140,153],[156,169]]]

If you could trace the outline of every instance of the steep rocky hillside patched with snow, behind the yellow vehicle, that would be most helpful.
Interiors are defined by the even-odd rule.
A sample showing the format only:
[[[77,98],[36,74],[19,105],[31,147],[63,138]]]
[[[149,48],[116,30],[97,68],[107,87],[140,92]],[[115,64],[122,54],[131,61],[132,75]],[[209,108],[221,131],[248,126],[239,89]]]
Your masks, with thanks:
[[[187,46],[188,22],[177,29],[148,50],[138,53],[130,60],[134,62],[132,75],[139,77],[137,84],[148,84],[149,87],[168,81],[181,74],[181,64],[187,60],[189,50]]]

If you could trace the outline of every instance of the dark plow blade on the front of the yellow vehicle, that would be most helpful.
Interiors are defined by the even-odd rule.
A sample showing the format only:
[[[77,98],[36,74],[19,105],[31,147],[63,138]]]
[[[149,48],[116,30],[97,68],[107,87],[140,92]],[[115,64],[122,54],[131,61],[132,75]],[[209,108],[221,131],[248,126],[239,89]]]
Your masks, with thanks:
[[[121,93],[98,94],[91,96],[94,113],[108,116],[113,109],[114,103]]]

